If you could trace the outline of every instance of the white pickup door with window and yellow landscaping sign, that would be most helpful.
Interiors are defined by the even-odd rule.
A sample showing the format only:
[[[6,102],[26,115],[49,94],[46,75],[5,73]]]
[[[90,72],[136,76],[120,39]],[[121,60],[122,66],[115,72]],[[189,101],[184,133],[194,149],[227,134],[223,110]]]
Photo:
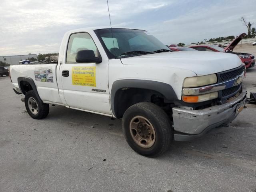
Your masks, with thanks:
[[[101,63],[78,63],[76,53],[93,50],[100,56],[90,34],[71,34],[66,50],[66,58],[61,65],[61,81],[66,104],[70,108],[90,112],[111,114],[108,90],[108,60]]]

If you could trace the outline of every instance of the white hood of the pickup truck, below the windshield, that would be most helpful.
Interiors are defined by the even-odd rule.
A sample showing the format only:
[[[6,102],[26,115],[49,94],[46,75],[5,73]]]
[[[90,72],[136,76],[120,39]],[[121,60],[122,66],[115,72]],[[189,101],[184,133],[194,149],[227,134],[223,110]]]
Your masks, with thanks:
[[[220,52],[162,52],[121,58],[125,65],[170,66],[195,72],[198,76],[218,73],[242,65],[235,54]]]

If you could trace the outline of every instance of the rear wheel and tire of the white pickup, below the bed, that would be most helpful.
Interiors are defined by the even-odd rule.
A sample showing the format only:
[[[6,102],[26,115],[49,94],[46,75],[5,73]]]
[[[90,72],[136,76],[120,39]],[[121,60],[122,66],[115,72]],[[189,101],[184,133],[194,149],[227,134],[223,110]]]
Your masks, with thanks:
[[[26,93],[24,102],[28,114],[33,119],[43,119],[49,114],[49,104],[39,100],[34,90]]]

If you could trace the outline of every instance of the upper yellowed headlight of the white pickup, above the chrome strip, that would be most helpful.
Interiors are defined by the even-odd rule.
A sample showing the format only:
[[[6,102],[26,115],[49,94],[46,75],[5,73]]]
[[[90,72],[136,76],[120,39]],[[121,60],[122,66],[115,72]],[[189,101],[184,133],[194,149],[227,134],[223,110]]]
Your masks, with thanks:
[[[210,85],[217,82],[216,74],[199,76],[199,77],[187,77],[184,79],[183,87],[190,88],[190,87],[200,87],[204,85]]]

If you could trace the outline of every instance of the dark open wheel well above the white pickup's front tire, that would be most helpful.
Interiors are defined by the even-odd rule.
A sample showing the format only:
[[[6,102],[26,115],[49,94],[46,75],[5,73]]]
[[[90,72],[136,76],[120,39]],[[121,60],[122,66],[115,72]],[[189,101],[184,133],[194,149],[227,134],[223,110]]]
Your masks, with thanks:
[[[114,114],[117,118],[122,118],[124,112],[130,106],[139,102],[151,102],[160,106],[168,115],[170,115],[172,103],[165,102],[165,100],[166,98],[161,93],[154,90],[121,88],[117,90],[114,95]]]

